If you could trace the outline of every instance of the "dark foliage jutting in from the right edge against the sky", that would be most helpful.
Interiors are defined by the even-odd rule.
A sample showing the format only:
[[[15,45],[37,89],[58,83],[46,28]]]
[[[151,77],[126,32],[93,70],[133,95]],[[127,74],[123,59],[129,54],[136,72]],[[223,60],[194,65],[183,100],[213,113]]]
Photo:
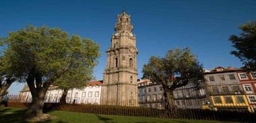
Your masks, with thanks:
[[[248,21],[238,27],[242,31],[240,36],[231,35],[229,38],[237,49],[231,54],[241,59],[248,70],[256,70],[256,21]]]

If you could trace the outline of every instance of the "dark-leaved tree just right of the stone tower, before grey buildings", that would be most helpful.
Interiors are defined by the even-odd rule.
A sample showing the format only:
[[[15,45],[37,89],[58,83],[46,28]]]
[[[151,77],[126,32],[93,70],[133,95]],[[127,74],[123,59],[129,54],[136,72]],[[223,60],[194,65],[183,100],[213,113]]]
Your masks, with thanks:
[[[176,108],[173,90],[185,86],[188,82],[203,80],[202,65],[188,47],[170,49],[165,57],[150,57],[143,65],[143,78],[161,83],[166,97],[166,108]]]

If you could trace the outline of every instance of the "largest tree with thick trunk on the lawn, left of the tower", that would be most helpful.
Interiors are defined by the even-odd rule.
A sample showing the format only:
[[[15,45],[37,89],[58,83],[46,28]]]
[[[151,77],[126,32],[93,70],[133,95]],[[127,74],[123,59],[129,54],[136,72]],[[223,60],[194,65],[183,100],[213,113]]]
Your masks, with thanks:
[[[9,73],[18,82],[26,82],[32,95],[25,120],[49,118],[42,113],[49,86],[85,85],[92,78],[92,69],[100,56],[99,45],[92,40],[78,35],[69,38],[65,31],[46,26],[28,25],[26,29],[10,32],[3,42],[7,45],[3,57]]]

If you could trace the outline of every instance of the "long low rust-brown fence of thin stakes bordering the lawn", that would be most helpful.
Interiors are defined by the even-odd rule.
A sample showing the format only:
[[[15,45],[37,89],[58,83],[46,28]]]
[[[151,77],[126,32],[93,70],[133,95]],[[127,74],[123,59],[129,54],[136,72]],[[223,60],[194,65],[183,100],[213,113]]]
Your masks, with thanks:
[[[10,98],[7,106],[29,108],[30,102],[19,102],[18,98]],[[212,111],[201,109],[172,109],[110,106],[99,104],[59,104],[44,103],[45,110],[61,110],[65,112],[80,112],[88,114],[105,114],[119,116],[141,116],[150,118],[179,118],[194,120],[220,120],[230,122],[255,122],[256,114],[251,112]]]

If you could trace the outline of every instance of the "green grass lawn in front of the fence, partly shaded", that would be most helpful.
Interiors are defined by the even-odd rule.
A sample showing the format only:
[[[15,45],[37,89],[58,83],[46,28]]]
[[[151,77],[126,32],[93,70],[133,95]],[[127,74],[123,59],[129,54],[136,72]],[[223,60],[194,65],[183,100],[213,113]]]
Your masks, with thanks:
[[[0,107],[0,122],[24,122],[22,115],[25,114],[27,109],[24,108],[10,108]],[[146,118],[135,116],[110,116],[100,114],[84,114],[77,112],[63,112],[63,111],[47,111],[46,114],[57,116],[55,120],[48,120],[44,122],[57,122],[57,123],[75,123],[75,122],[90,122],[90,123],[220,123],[220,121],[208,120],[180,120],[180,119],[165,119],[165,118]]]

